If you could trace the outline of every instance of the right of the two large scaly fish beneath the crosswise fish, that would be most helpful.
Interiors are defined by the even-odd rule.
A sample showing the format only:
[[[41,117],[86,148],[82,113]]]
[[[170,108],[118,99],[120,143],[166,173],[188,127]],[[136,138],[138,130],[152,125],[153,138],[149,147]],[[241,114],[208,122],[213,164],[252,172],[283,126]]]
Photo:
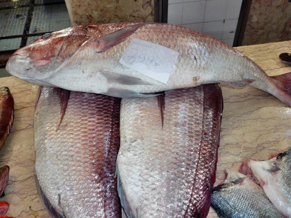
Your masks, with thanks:
[[[155,97],[124,98],[116,173],[129,218],[206,218],[215,182],[223,108],[220,86],[164,93],[164,122]]]

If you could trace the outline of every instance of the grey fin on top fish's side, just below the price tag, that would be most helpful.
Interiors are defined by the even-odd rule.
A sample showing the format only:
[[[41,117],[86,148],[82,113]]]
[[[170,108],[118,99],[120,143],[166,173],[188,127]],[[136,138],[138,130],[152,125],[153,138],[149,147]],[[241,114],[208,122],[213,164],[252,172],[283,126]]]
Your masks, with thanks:
[[[115,74],[112,72],[102,72],[100,74],[104,76],[110,83],[115,82],[122,85],[153,85],[152,83],[143,81],[140,78],[130,77],[127,75]]]

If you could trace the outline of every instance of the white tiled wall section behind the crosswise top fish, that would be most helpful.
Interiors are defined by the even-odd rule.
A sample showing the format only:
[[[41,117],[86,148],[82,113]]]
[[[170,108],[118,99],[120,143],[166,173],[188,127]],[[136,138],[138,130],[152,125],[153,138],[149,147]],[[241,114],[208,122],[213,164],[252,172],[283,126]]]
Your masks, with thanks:
[[[242,0],[169,0],[168,23],[208,34],[232,46]]]

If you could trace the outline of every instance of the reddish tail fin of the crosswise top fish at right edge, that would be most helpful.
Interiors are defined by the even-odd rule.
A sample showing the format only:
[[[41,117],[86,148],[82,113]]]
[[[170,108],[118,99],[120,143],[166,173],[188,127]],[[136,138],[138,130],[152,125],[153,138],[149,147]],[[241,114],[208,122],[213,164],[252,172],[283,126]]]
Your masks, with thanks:
[[[270,78],[278,88],[273,95],[288,106],[291,106],[291,72]]]

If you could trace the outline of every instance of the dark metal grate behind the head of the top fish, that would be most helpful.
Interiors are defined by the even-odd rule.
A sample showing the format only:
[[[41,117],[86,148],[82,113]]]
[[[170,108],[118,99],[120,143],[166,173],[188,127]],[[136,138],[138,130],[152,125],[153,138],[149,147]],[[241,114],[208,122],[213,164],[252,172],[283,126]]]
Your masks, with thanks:
[[[64,0],[0,1],[0,55],[71,26]]]

